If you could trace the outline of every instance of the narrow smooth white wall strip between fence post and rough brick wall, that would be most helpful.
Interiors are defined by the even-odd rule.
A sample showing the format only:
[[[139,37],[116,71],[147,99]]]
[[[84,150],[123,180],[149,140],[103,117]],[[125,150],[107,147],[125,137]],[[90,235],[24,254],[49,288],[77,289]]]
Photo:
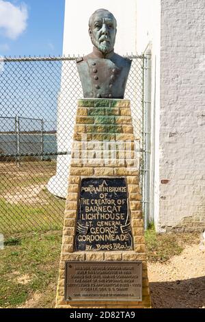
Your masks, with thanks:
[[[161,0],[137,0],[137,52],[152,53],[150,216],[159,220],[159,115],[161,69]],[[157,228],[158,229],[158,228]]]

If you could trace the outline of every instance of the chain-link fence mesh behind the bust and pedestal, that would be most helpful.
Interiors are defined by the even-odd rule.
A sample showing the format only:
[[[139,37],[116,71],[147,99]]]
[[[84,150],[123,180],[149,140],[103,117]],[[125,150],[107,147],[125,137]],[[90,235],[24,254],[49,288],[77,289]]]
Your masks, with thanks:
[[[143,56],[133,60],[131,99],[143,161]],[[0,232],[61,229],[77,99],[75,58],[4,58],[0,71]]]

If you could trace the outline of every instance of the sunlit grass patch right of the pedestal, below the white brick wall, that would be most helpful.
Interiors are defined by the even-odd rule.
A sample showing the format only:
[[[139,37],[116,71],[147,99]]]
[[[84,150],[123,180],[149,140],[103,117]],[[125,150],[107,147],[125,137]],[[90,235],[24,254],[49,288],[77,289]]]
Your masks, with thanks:
[[[166,262],[172,256],[180,255],[185,245],[200,243],[198,233],[157,234],[154,226],[145,232],[145,238],[150,262]]]

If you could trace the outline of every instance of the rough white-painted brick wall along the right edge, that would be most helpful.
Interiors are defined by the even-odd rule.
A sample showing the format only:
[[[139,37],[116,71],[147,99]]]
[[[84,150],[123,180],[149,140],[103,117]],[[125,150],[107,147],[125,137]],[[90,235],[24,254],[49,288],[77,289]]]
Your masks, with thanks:
[[[161,1],[159,226],[205,227],[205,3]]]

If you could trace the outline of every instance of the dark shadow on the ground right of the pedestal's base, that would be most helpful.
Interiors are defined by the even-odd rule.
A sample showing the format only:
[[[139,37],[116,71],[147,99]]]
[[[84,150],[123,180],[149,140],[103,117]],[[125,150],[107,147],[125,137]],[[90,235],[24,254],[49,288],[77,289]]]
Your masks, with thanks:
[[[152,308],[202,308],[205,307],[205,276],[174,282],[152,282],[150,293]]]

